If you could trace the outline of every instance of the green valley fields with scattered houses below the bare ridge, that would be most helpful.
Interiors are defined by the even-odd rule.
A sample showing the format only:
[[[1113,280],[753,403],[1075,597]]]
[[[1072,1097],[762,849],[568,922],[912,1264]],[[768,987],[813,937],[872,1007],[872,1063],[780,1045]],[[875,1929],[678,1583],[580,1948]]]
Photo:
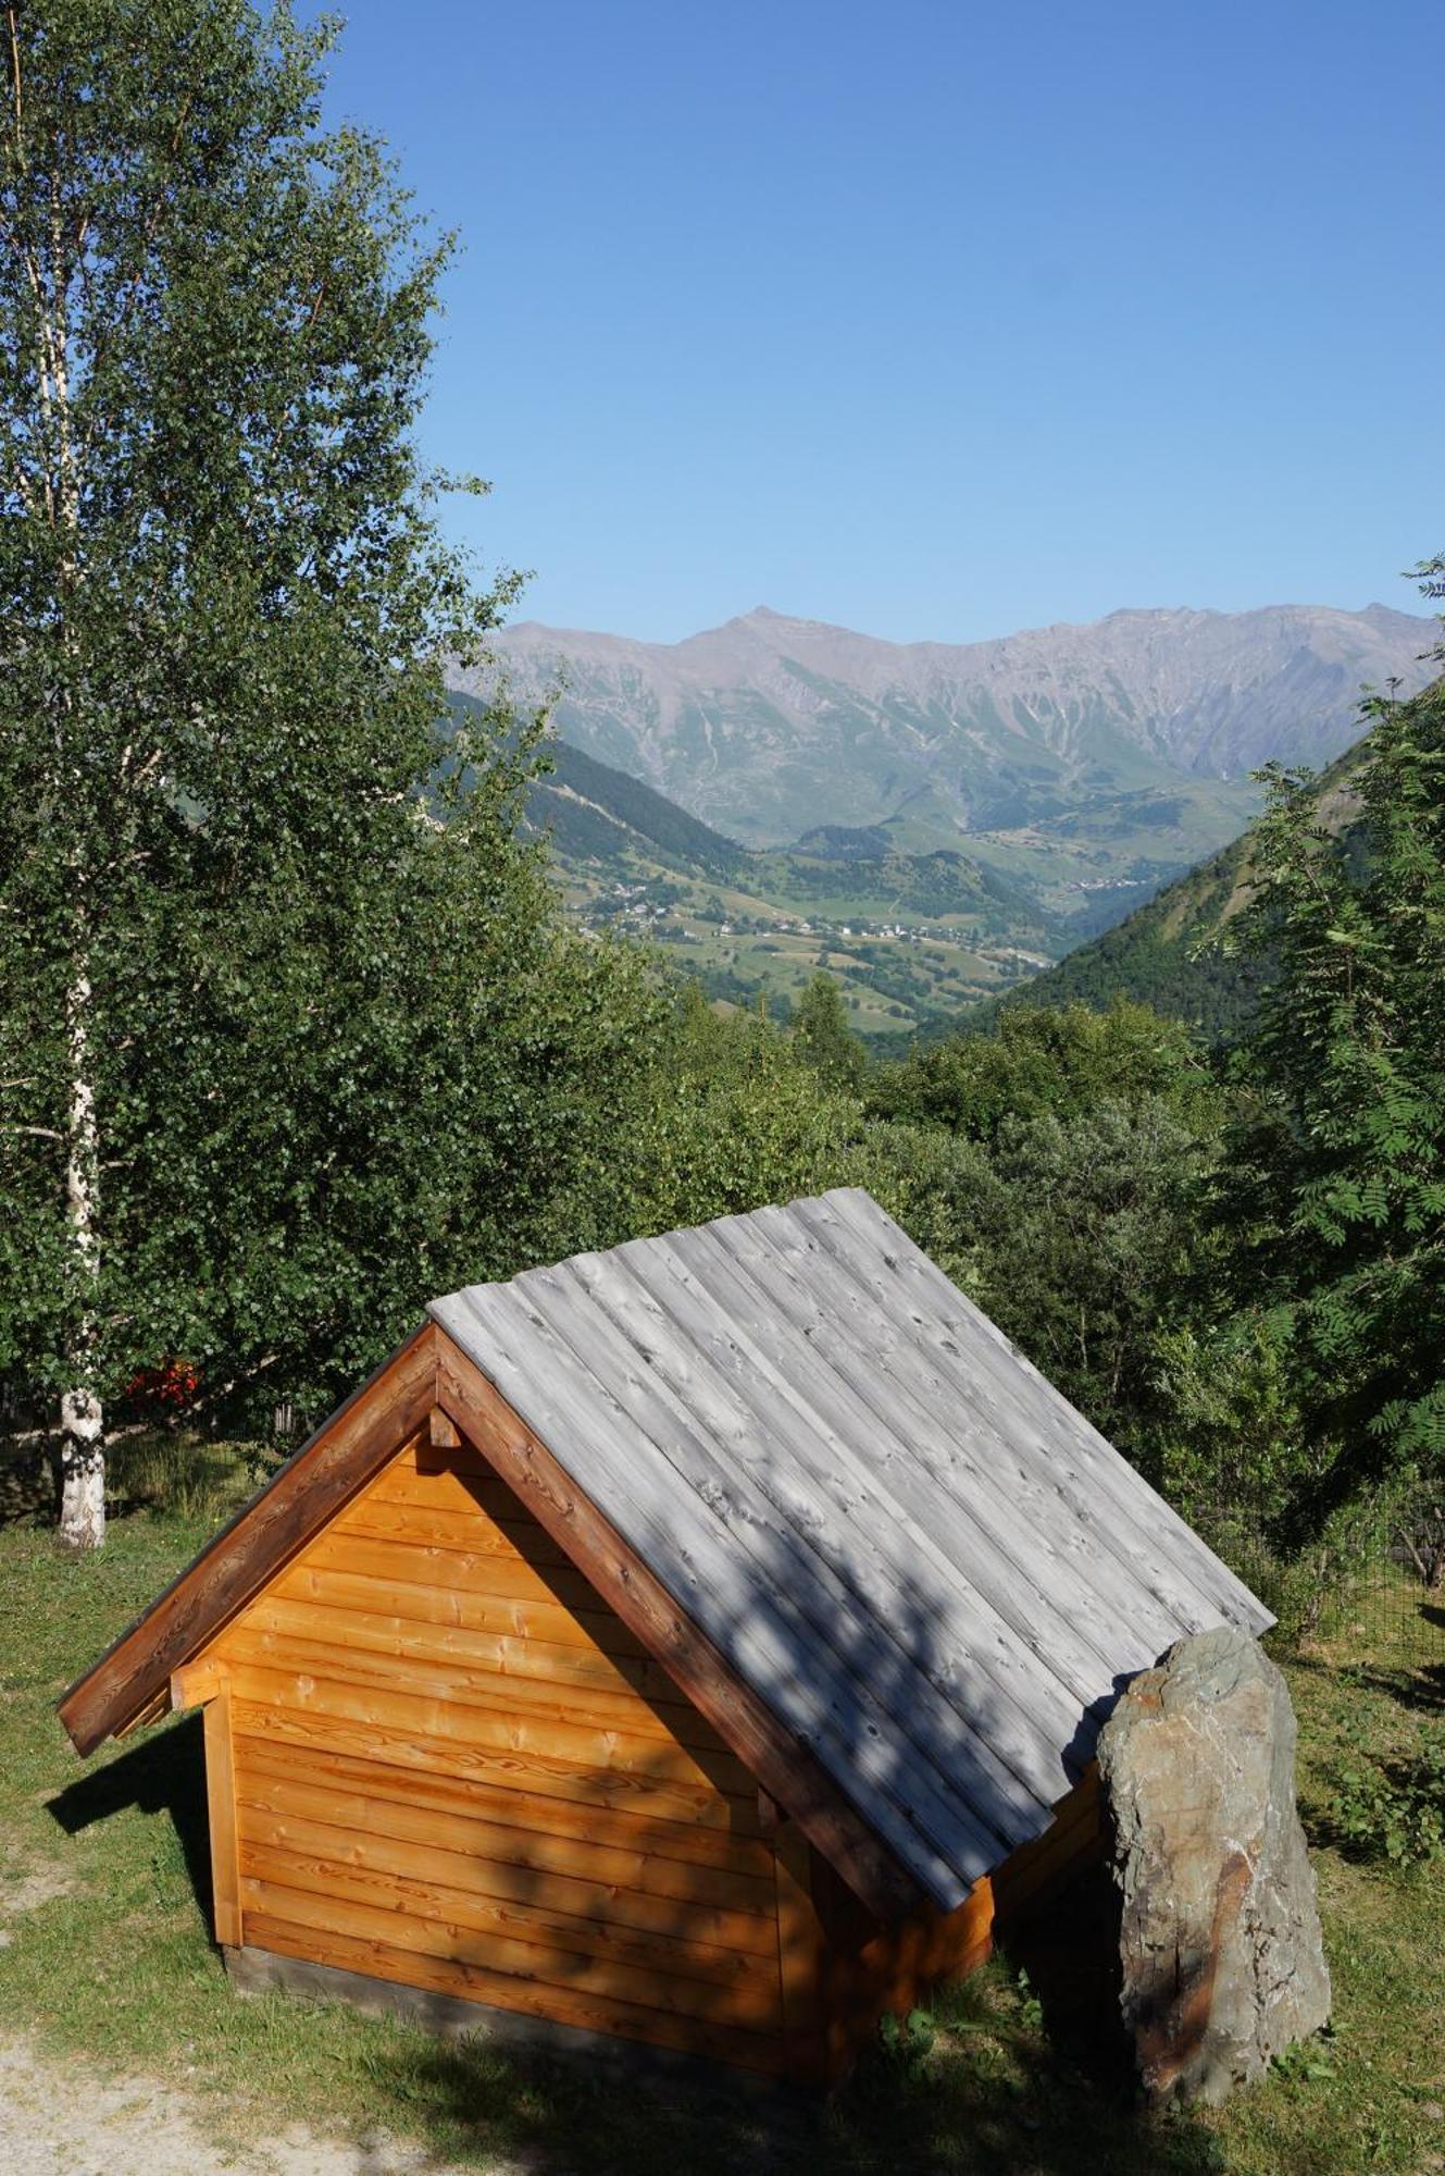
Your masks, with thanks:
[[[450,696],[455,716],[479,705]],[[740,1005],[792,1003],[818,968],[864,1036],[910,1038],[1005,997],[1110,929],[1243,829],[1249,783],[1171,792],[1079,788],[1069,807],[960,829],[936,790],[877,825],[816,823],[783,846],[742,846],[642,779],[566,740],[546,744],[527,820],[546,833],[568,914],[649,938]]]

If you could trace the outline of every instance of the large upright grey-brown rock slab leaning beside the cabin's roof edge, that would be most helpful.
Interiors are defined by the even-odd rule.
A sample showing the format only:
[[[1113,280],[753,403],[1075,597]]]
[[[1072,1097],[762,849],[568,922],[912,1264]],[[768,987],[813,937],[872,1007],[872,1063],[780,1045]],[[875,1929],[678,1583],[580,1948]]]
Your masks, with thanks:
[[[1219,2102],[1330,2015],[1284,1678],[1230,1625],[1177,1641],[1121,1695],[1099,1776],[1145,2091]]]

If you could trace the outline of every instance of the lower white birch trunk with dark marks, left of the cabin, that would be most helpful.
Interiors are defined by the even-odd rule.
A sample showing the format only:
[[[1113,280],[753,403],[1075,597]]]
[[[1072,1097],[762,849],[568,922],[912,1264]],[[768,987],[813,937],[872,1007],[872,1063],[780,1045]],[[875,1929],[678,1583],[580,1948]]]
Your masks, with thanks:
[[[76,973],[65,999],[70,1047],[70,1127],[65,1214],[76,1282],[72,1380],[61,1395],[61,1541],[72,1549],[104,1545],[104,1414],[94,1386],[96,1286],[100,1275],[100,1136],[89,1077],[91,986]]]

